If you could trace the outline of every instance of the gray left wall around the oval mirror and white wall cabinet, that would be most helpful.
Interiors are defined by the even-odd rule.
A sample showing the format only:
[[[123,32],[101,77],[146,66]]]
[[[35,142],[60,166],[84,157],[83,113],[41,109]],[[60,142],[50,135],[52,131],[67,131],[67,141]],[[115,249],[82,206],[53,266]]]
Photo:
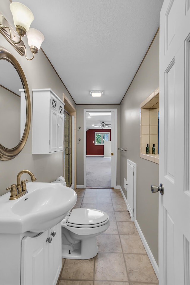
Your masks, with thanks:
[[[9,9],[10,1],[0,1],[0,11],[14,26],[12,14]],[[27,45],[27,39],[23,39]],[[1,47],[6,48],[12,53],[20,63],[29,86],[31,107],[32,107],[32,89],[33,88],[51,88],[61,99],[63,93],[69,98],[72,104],[75,105],[71,96],[67,92],[61,80],[56,75],[49,61],[42,53],[41,50],[35,55],[32,61],[27,61],[25,57],[20,54],[7,42],[7,40],[0,34]],[[43,48],[43,44],[42,44]],[[29,51],[30,53],[30,51]],[[29,54],[28,57],[31,55]],[[2,118],[1,118],[2,122]],[[32,127],[32,120],[31,120]],[[30,127],[29,137],[25,147],[21,153],[12,160],[0,160],[0,195],[6,193],[6,188],[11,184],[16,183],[16,177],[20,170],[28,169],[34,172],[37,182],[50,182],[54,181],[58,176],[63,175],[63,153],[52,153],[49,155],[32,154],[32,128]],[[1,134],[2,135],[2,134]],[[6,135],[6,134],[4,134]],[[28,175],[23,175],[23,179],[29,178]]]

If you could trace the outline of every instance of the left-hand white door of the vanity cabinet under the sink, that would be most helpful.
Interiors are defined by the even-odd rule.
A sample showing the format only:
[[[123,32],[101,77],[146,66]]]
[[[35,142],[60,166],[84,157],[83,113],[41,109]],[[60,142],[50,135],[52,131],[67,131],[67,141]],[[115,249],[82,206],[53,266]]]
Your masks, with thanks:
[[[37,237],[21,241],[21,285],[47,285],[48,280],[48,231]]]

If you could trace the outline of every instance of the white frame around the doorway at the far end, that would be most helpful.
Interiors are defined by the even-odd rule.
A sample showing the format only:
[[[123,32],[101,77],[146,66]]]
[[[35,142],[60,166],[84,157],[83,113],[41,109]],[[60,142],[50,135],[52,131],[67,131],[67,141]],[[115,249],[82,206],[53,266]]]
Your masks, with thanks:
[[[117,184],[117,109],[103,108],[103,109],[84,109],[83,110],[83,172],[84,172],[84,188],[86,188],[86,113],[87,112],[113,112],[111,113],[111,151],[113,148],[113,166],[111,163],[111,177],[113,178],[113,187],[116,189]],[[112,115],[113,114],[113,115]],[[112,118],[113,116],[113,118]],[[113,144],[113,146],[112,146]]]

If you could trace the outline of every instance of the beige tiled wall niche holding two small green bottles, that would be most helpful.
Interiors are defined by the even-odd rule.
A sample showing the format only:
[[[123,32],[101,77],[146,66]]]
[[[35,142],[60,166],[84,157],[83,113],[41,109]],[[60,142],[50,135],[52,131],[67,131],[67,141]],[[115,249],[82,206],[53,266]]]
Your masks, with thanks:
[[[140,157],[159,164],[158,154],[159,88],[140,104]],[[149,154],[146,145],[149,145]],[[153,143],[155,154],[152,154]]]

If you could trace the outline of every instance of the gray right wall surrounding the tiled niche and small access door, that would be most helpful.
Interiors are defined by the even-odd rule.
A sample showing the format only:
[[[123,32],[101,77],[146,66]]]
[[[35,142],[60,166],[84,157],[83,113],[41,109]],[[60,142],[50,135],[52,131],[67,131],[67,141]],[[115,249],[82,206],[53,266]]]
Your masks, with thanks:
[[[159,87],[159,33],[120,105],[121,145],[127,152],[120,157],[120,185],[127,178],[127,159],[137,164],[136,219],[158,264],[158,193],[151,184],[159,184],[159,165],[140,158],[140,104]],[[126,195],[126,191],[124,191]]]

